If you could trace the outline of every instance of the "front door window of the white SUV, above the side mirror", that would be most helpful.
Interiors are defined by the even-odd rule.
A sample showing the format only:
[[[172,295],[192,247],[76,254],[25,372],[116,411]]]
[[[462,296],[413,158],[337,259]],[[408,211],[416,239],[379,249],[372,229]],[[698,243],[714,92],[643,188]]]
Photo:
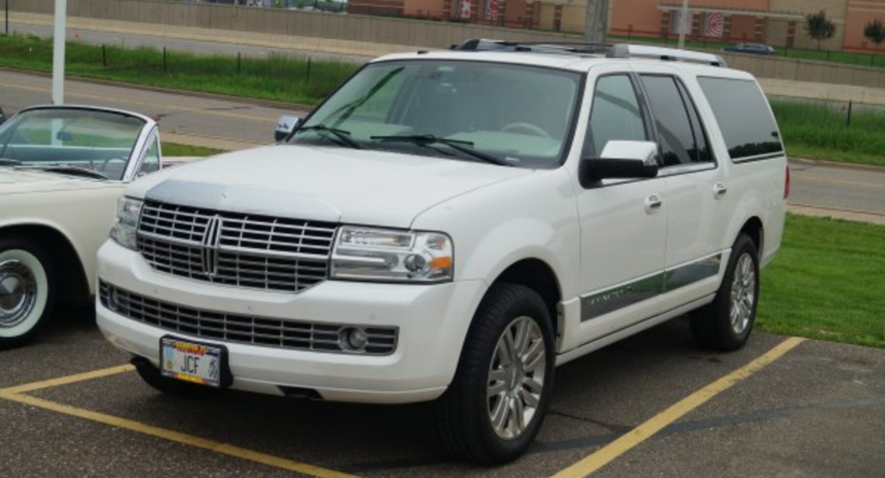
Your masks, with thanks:
[[[584,157],[602,153],[612,140],[648,140],[636,91],[626,74],[604,76],[596,81],[588,133]]]

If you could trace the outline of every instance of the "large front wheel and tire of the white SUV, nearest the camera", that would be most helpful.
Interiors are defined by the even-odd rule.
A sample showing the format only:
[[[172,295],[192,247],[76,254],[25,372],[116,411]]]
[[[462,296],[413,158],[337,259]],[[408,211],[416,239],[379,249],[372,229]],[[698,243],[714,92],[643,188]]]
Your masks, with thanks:
[[[473,317],[455,378],[434,404],[443,447],[458,459],[484,465],[519,458],[550,404],[554,346],[550,312],[535,290],[492,286]],[[518,361],[512,359],[514,350]],[[516,410],[522,411],[522,422]]]

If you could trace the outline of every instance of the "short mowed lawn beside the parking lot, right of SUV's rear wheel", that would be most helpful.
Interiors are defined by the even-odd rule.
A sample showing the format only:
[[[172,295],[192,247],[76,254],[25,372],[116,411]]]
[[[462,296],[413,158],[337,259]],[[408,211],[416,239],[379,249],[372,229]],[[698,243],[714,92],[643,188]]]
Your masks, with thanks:
[[[761,330],[885,348],[885,227],[788,215],[762,271]]]

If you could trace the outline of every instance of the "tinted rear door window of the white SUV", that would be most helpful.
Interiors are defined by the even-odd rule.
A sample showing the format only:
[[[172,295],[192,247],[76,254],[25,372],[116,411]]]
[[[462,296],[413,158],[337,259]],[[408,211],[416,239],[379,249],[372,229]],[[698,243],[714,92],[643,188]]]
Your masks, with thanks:
[[[701,156],[699,145],[691,127],[689,108],[682,101],[675,79],[651,75],[643,75],[642,79],[658,127],[663,166],[696,162]]]

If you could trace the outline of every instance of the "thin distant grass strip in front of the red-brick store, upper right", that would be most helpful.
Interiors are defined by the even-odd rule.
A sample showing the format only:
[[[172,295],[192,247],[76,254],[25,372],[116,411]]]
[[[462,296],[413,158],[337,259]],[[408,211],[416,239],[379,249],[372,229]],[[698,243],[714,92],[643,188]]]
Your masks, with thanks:
[[[650,43],[650,44],[664,44],[664,40],[660,38],[648,38],[648,37],[631,37],[627,38],[627,36],[623,35],[609,35],[609,42],[631,42],[631,43]],[[666,45],[673,46],[675,48],[678,42],[677,35],[671,35],[670,39],[666,42]],[[744,41],[742,41],[744,42]],[[745,41],[745,43],[750,43],[751,40]],[[732,46],[735,43],[727,43],[727,42],[695,42],[692,40],[686,40],[685,47],[691,50],[713,50],[713,51],[721,51],[723,48],[727,46]],[[881,53],[858,53],[852,51],[827,51],[827,50],[813,50],[813,49],[802,49],[802,48],[783,48],[777,45],[772,45],[774,47],[774,56],[776,57],[786,57],[786,58],[799,58],[799,59],[808,59],[808,60],[816,60],[816,61],[829,61],[832,63],[842,63],[845,65],[855,65],[855,66],[874,66],[879,68],[885,68],[885,48],[881,50]]]

